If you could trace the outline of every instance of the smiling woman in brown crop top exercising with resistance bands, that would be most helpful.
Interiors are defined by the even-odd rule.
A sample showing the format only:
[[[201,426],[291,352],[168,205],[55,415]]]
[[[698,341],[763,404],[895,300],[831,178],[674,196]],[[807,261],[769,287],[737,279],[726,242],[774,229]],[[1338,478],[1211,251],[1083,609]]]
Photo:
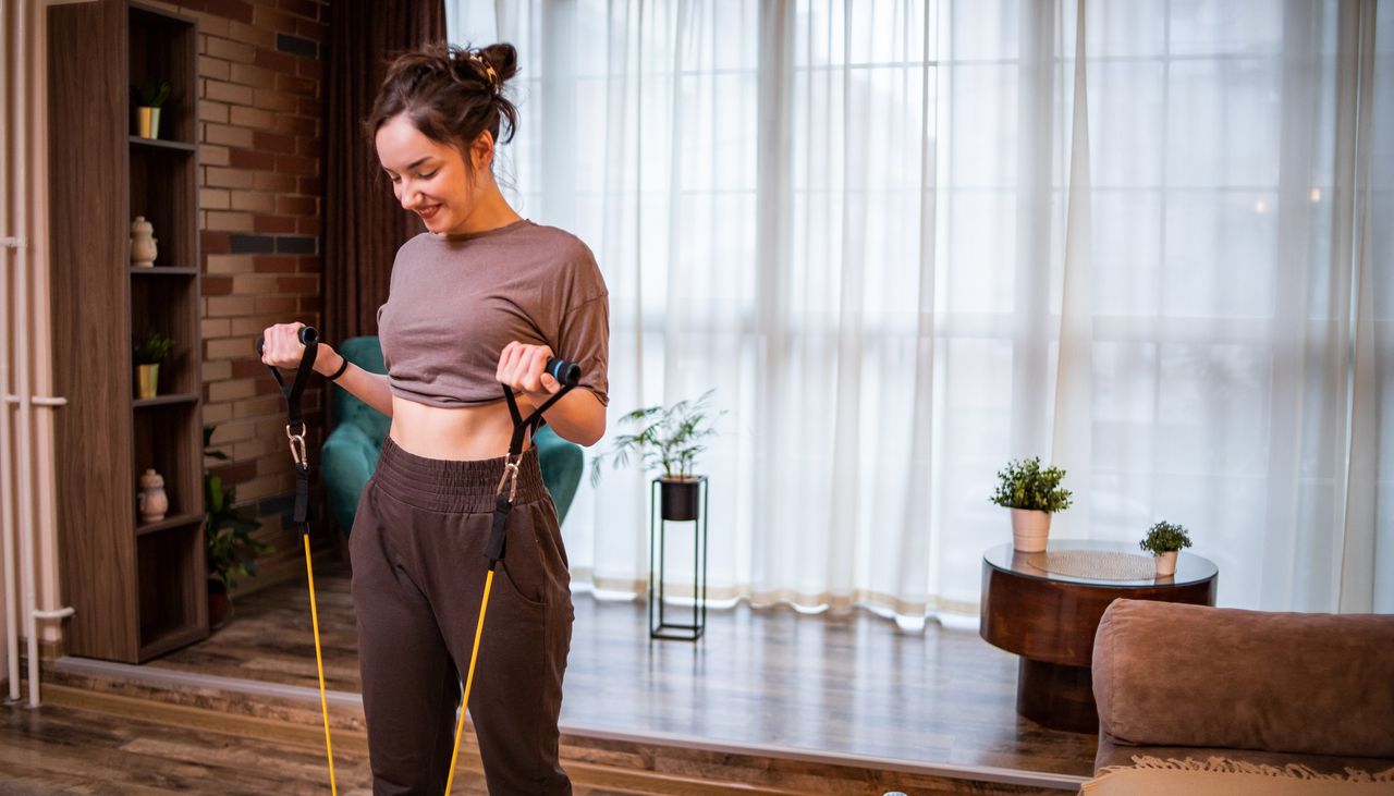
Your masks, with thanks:
[[[546,358],[579,362],[580,388],[545,413],[565,439],[605,432],[609,305],[590,250],[509,206],[495,144],[512,45],[432,46],[397,59],[368,120],[401,206],[428,231],[407,241],[378,311],[388,375],[329,346],[315,369],[392,418],[350,535],[374,793],[442,793],[460,679],[470,664],[495,492],[513,421],[560,390]],[[505,141],[507,141],[505,138]],[[262,361],[300,362],[300,323],[266,329]],[[503,385],[503,386],[500,386]],[[537,450],[517,477],[503,562],[470,694],[491,793],[570,793],[556,721],[572,637],[566,552]]]

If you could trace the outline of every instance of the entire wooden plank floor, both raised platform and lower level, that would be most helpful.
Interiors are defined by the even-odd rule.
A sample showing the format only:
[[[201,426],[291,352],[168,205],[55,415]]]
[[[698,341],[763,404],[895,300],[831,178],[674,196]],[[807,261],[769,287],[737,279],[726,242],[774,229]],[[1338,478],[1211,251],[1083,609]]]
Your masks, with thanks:
[[[336,770],[361,795],[353,605],[346,573],[323,570]],[[972,632],[737,608],[691,644],[650,641],[645,623],[641,604],[576,598],[562,757],[577,795],[1050,793],[1018,772],[1069,788],[1093,768],[1094,737],[1016,717],[1015,657]],[[245,597],[146,666],[66,659],[46,680],[39,711],[0,708],[0,793],[328,792],[302,584]],[[482,792],[467,732],[454,793]]]

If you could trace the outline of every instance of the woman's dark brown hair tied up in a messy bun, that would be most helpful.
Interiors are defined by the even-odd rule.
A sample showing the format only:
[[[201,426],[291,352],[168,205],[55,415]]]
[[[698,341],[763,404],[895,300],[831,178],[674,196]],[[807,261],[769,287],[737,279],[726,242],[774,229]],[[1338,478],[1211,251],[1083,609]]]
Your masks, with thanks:
[[[517,71],[519,53],[507,43],[466,49],[442,42],[397,56],[372,103],[368,137],[406,113],[427,138],[459,148],[471,169],[468,148],[481,132],[488,130],[496,144],[513,139],[519,110],[503,85]]]

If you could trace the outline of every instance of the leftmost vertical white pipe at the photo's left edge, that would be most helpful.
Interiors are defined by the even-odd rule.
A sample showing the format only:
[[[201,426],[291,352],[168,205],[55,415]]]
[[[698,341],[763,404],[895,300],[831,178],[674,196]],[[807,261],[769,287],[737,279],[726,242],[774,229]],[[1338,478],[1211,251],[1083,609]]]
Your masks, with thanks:
[[[10,173],[10,158],[14,145],[11,128],[15,124],[11,109],[15,107],[14,100],[20,88],[20,61],[18,59],[11,59],[14,49],[10,45],[10,14],[13,11],[14,8],[10,4],[0,8],[0,70],[4,71],[3,85],[0,85],[0,102],[4,103],[3,110],[0,110],[0,116],[3,116],[0,118],[0,134],[4,135],[7,142],[4,149],[0,151],[0,227],[3,227],[0,237],[4,237],[4,245],[0,250],[4,265],[4,272],[0,273],[0,335],[4,337],[0,340],[0,537],[3,537],[0,546],[4,548],[4,569],[0,570],[0,580],[4,581],[4,618],[0,622],[4,623],[6,668],[10,679],[8,701],[11,703],[20,700],[20,622],[17,616],[18,585],[15,583],[14,566],[13,441],[10,439],[10,396],[13,395],[10,386],[10,342],[14,339],[10,333],[10,263],[14,259],[11,252],[21,244],[20,237],[22,234],[18,229],[10,226],[10,197],[14,192]],[[15,355],[18,354],[20,351],[15,351]]]

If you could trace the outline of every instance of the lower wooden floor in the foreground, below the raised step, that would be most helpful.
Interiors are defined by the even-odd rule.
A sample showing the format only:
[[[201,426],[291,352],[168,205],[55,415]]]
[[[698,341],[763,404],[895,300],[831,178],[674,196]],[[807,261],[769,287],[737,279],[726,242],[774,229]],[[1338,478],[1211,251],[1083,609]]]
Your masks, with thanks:
[[[319,726],[47,686],[43,707],[0,707],[0,793],[59,796],[329,792]],[[563,736],[576,796],[1051,796],[1020,785]],[[362,732],[335,732],[339,793],[367,796]],[[487,793],[471,735],[453,796]]]

